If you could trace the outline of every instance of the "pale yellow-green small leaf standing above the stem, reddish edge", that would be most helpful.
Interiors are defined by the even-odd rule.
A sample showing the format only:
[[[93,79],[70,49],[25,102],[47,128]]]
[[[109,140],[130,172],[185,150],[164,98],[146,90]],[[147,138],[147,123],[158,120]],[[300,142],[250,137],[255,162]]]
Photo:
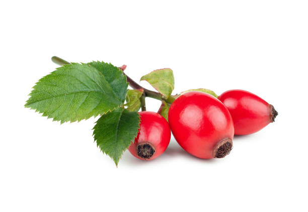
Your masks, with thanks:
[[[158,69],[141,77],[146,80],[157,91],[168,98],[174,89],[174,76],[170,68]]]

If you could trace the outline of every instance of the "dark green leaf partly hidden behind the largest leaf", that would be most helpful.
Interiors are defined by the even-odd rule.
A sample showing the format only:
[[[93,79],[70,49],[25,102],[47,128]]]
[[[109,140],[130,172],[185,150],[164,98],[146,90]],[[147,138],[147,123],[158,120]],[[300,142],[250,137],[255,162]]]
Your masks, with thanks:
[[[105,76],[106,81],[109,83],[118,99],[124,102],[128,83],[123,72],[118,67],[113,66],[110,63],[93,61],[88,64],[96,68]]]

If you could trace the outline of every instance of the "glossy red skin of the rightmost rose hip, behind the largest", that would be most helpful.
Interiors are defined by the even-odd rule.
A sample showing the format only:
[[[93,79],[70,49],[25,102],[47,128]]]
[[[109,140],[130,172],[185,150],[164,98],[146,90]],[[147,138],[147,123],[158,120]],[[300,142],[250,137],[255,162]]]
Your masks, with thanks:
[[[228,90],[218,99],[229,110],[235,135],[255,133],[271,123],[270,104],[245,90]]]

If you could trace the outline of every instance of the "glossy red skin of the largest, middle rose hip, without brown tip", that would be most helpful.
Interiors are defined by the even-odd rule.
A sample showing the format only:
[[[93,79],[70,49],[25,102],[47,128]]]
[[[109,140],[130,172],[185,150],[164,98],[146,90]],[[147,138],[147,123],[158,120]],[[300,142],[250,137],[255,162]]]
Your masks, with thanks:
[[[226,107],[200,91],[179,96],[169,109],[168,120],[180,146],[198,158],[213,158],[216,145],[234,136],[233,121]]]

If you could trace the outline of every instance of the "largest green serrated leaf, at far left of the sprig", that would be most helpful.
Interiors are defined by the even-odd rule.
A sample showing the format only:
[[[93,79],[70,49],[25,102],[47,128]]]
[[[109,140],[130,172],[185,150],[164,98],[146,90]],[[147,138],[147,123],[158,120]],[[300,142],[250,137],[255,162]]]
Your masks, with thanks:
[[[61,124],[96,117],[123,104],[104,75],[87,64],[59,67],[33,88],[25,107]]]

